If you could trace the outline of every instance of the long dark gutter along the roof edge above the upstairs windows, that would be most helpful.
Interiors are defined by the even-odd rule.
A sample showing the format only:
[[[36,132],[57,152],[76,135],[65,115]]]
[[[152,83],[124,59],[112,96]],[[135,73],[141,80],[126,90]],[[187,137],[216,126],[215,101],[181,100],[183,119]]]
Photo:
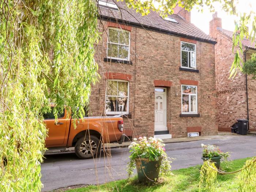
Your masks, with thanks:
[[[140,28],[143,28],[143,29],[147,28],[149,30],[157,31],[159,33],[165,33],[165,34],[169,34],[169,35],[176,35],[176,36],[179,36],[179,37],[181,36],[181,37],[184,37],[184,38],[195,39],[197,41],[208,42],[208,43],[213,44],[213,45],[217,44],[217,41],[203,39],[203,38],[200,38],[200,37],[194,37],[194,36],[186,35],[186,34],[183,34],[183,33],[177,33],[177,32],[173,32],[173,31],[161,29],[161,28],[158,28],[158,27],[153,27],[153,26],[150,26],[150,25],[144,25],[144,24],[141,24],[141,23],[131,22],[131,21],[128,21],[128,20],[123,20],[123,19],[117,19],[117,18],[105,16],[105,15],[99,15],[99,19],[103,19],[103,20],[106,20],[106,21],[109,21],[109,22],[115,22],[115,23],[117,23],[117,22],[127,23],[127,24],[135,26],[135,27],[140,27]]]

